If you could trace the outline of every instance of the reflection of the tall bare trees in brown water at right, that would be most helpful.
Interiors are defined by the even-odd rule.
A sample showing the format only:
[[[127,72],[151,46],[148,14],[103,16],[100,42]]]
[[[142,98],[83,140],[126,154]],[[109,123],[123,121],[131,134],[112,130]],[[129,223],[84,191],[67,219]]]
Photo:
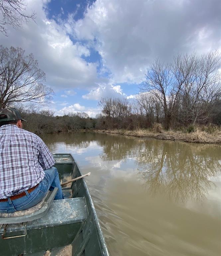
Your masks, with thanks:
[[[156,145],[158,144],[158,145]],[[215,184],[220,154],[215,145],[150,141],[138,152],[137,164],[142,168],[138,177],[144,180],[152,195],[164,193],[170,199],[206,199],[208,189]]]

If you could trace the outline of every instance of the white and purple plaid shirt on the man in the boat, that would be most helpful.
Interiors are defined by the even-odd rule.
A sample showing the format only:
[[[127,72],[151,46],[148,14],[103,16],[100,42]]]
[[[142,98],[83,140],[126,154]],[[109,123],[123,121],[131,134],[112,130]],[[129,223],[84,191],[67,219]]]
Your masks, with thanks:
[[[16,125],[0,127],[0,199],[37,185],[54,158],[36,134]]]

